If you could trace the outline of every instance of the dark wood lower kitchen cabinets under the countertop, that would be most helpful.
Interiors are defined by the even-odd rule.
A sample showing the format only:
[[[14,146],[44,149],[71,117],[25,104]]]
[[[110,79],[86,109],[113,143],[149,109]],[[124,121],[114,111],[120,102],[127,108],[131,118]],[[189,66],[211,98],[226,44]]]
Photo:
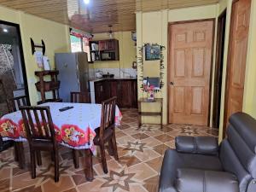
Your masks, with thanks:
[[[96,103],[117,96],[119,108],[137,108],[137,79],[106,79],[95,83]]]

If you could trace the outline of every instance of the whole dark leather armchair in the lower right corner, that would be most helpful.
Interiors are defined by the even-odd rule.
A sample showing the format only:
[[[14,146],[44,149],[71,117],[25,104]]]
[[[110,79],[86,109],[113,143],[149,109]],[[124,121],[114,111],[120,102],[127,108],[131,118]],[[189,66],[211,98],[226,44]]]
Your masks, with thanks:
[[[256,120],[230,117],[227,138],[176,137],[166,150],[160,192],[256,192]]]

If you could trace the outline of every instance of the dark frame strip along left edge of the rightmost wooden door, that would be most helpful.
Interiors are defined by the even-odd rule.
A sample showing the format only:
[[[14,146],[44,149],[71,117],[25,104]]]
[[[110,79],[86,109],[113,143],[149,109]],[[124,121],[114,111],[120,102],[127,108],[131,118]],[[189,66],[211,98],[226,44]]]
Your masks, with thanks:
[[[228,106],[228,91],[229,91],[229,87],[228,84],[230,83],[230,55],[231,55],[231,44],[232,44],[232,39],[233,39],[233,26],[235,25],[235,15],[234,15],[234,7],[235,7],[235,3],[239,2],[239,0],[233,0],[232,1],[232,6],[231,6],[231,16],[230,16],[230,33],[229,33],[229,46],[228,46],[228,57],[227,57],[227,68],[226,68],[226,78],[225,78],[225,92],[224,92],[224,119],[223,119],[223,129],[222,129],[222,138],[224,139],[226,137],[226,129],[227,129],[227,124],[228,121],[226,121],[227,119],[227,115],[228,115],[228,110],[227,110],[227,106]],[[252,1],[251,1],[252,3]],[[243,105],[243,103],[242,103]]]

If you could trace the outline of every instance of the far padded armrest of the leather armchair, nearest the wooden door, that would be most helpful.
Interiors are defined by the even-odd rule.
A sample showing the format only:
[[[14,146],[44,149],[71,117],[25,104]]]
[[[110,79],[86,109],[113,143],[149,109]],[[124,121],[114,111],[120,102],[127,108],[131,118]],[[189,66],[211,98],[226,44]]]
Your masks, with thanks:
[[[177,152],[192,154],[218,154],[218,141],[215,137],[188,137],[175,138]]]

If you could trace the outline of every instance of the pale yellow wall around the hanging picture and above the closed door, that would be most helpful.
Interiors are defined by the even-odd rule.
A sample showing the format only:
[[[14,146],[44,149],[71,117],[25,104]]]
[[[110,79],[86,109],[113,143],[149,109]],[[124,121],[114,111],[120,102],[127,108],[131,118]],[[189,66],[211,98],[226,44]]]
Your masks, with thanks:
[[[166,46],[168,42],[168,22],[180,21],[180,20],[201,20],[201,19],[209,19],[216,18],[218,13],[217,4],[200,6],[200,7],[192,7],[192,8],[184,8],[184,9],[163,9],[160,11],[154,12],[137,12],[137,54],[138,49],[144,43],[157,43]],[[167,123],[167,49],[163,52],[164,54],[164,65],[165,65],[165,75],[164,75],[164,87],[160,91],[160,93],[156,94],[157,97],[163,98],[163,122]],[[214,61],[213,61],[214,63]],[[144,61],[144,71],[147,73],[150,71],[149,67],[152,65],[148,64],[147,61]],[[148,68],[147,68],[148,67]],[[151,70],[150,76],[158,76],[159,72],[155,71],[155,73]],[[144,75],[141,71],[141,68],[138,67],[138,77],[140,75]],[[141,82],[138,81],[138,87],[140,87]],[[145,97],[146,93],[143,93],[142,90],[138,89],[138,97]],[[143,110],[150,110],[150,106],[148,105],[144,107]],[[147,123],[155,123],[159,122],[160,119],[157,118],[143,118],[143,122]]]

